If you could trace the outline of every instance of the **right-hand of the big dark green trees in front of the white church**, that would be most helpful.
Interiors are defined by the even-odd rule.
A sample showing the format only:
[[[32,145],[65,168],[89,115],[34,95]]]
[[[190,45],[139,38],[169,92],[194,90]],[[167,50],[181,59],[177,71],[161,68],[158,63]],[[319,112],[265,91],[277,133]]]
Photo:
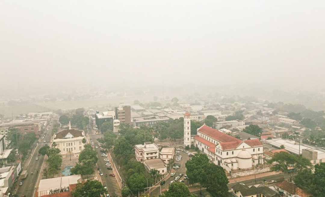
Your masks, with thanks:
[[[228,178],[221,166],[208,163],[204,166],[204,179],[200,183],[213,197],[226,197],[228,195]]]

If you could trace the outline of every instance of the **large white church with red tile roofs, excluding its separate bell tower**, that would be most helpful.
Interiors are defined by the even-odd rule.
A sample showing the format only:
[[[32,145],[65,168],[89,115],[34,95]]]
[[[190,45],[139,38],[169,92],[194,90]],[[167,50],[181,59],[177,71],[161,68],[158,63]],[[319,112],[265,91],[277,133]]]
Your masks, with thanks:
[[[263,145],[260,140],[242,141],[206,125],[197,130],[194,146],[228,172],[263,164]]]

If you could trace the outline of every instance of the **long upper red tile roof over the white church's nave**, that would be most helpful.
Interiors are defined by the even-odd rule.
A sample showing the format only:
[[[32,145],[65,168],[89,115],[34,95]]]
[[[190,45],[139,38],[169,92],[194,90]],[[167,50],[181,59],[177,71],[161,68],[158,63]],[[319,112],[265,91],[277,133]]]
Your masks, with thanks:
[[[220,132],[217,129],[212,129],[211,127],[208,127],[206,125],[203,125],[199,131],[211,138],[213,138],[214,140],[217,140],[219,142],[242,142],[241,140],[232,137],[230,135],[227,135],[223,132]]]

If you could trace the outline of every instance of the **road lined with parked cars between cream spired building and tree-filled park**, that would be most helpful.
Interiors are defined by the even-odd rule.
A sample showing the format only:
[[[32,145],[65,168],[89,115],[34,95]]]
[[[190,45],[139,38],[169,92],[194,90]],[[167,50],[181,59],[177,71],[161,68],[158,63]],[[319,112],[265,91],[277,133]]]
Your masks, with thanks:
[[[95,146],[98,146],[98,141],[96,140],[97,138],[99,138],[99,135],[96,134],[90,134],[89,137],[93,140]],[[110,196],[122,196],[121,195],[121,190],[120,187],[117,183],[117,180],[115,177],[110,177],[110,176],[105,176],[105,174],[109,175],[109,174],[113,174],[112,170],[108,170],[107,167],[105,166],[105,162],[104,159],[107,157],[102,157],[101,156],[101,152],[98,146],[98,149],[96,149],[97,154],[98,154],[98,162],[97,165],[98,167],[101,169],[101,171],[103,172],[103,176],[101,176],[101,180],[104,186],[107,187],[108,193],[110,194]],[[115,166],[113,166],[115,167]]]

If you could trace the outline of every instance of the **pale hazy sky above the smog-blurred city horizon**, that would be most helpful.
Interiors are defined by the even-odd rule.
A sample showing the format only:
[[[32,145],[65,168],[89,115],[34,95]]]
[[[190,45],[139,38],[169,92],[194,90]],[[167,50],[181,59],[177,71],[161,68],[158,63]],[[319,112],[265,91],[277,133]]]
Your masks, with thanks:
[[[0,1],[1,86],[325,82],[325,1]]]

